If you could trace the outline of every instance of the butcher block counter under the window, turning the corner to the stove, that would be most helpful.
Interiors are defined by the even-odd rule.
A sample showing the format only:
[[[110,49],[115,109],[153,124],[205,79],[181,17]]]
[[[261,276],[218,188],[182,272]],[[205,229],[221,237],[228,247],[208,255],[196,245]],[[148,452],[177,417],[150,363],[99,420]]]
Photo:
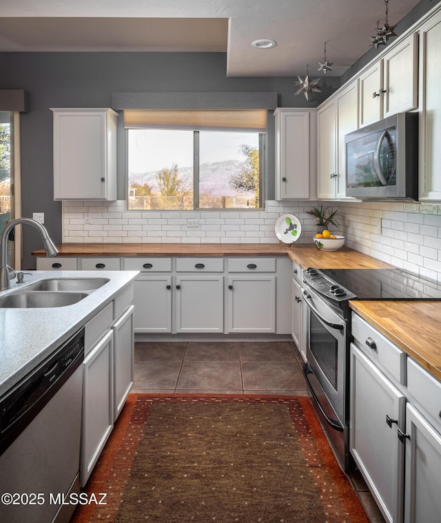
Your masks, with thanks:
[[[311,244],[279,243],[62,243],[58,256],[289,256],[302,267],[317,269],[385,269],[391,267],[348,247],[324,252]],[[44,249],[32,252],[45,256]]]

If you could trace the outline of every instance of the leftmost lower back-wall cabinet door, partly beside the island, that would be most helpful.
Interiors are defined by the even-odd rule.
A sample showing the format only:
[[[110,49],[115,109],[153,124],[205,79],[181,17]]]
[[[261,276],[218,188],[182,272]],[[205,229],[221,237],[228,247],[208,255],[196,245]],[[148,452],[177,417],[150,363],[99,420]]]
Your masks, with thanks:
[[[134,305],[135,332],[172,332],[172,276],[139,276]]]

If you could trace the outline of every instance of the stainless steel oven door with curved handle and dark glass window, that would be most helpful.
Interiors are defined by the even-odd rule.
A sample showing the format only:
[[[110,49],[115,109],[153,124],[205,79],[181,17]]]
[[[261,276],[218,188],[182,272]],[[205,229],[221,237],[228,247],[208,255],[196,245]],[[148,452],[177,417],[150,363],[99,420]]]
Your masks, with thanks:
[[[347,418],[345,416],[347,322],[338,314],[337,309],[309,287],[303,291],[303,299],[307,305],[305,379],[328,424],[337,431],[343,431]],[[310,373],[314,373],[322,391],[314,389],[314,380],[310,380],[308,376]],[[327,402],[336,413],[337,420],[329,416]]]

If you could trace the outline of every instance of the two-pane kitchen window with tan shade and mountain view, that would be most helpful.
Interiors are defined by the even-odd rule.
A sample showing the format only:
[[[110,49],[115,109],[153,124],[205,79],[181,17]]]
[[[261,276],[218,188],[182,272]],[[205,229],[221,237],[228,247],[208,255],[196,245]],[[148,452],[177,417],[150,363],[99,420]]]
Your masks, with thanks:
[[[127,207],[263,207],[266,110],[125,111]]]

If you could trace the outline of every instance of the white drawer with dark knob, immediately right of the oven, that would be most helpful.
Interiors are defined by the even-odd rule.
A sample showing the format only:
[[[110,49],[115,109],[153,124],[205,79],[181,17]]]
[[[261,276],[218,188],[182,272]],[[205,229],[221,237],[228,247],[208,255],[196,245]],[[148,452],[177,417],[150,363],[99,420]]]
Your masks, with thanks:
[[[382,367],[382,371],[401,384],[406,384],[406,353],[404,351],[398,349],[396,345],[356,314],[352,314],[352,336],[356,339],[358,347],[371,361]]]

